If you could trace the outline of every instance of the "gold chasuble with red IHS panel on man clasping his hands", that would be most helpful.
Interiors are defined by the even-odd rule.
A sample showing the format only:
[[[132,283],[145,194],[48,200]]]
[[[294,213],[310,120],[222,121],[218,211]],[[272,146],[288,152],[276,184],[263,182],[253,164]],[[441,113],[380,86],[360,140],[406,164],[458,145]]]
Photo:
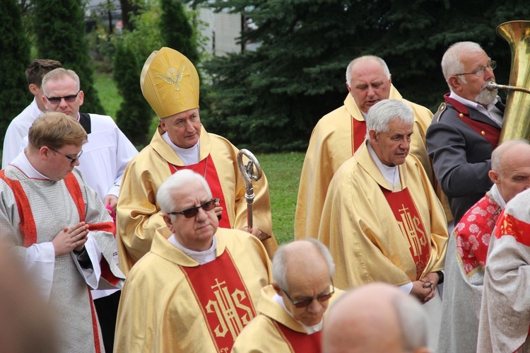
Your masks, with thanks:
[[[396,193],[362,144],[331,180],[319,240],[334,257],[336,287],[400,286],[443,270],[448,236],[442,205],[416,156],[409,154],[398,168]]]

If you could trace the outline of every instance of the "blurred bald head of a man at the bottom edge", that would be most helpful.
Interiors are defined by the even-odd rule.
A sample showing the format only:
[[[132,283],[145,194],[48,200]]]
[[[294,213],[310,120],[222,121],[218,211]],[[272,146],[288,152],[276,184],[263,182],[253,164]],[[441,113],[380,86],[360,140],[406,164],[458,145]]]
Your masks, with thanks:
[[[390,284],[366,284],[331,306],[322,352],[426,353],[427,326],[417,299]]]

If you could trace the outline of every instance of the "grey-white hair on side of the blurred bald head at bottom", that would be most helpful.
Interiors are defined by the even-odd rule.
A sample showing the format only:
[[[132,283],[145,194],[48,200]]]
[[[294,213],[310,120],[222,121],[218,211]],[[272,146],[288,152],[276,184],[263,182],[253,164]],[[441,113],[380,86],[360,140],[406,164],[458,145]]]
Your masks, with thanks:
[[[428,319],[421,304],[411,296],[394,296],[392,306],[401,328],[404,352],[413,352],[420,347],[428,347]]]

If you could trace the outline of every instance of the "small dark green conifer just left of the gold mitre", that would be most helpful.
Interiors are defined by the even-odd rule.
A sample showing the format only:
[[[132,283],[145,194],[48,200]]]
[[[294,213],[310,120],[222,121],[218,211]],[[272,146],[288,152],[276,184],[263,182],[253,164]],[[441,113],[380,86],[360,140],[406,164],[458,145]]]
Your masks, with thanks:
[[[147,132],[151,125],[153,110],[143,98],[139,85],[141,66],[131,48],[123,43],[117,46],[114,57],[114,80],[123,102],[116,114],[116,121],[122,132],[135,146],[145,146]]]

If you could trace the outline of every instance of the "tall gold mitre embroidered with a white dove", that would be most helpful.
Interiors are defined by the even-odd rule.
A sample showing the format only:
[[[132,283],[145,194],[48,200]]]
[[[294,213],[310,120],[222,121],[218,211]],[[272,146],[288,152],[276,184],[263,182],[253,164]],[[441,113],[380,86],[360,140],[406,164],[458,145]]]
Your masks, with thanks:
[[[199,74],[177,50],[163,47],[152,52],[143,64],[140,86],[160,118],[199,108]]]

